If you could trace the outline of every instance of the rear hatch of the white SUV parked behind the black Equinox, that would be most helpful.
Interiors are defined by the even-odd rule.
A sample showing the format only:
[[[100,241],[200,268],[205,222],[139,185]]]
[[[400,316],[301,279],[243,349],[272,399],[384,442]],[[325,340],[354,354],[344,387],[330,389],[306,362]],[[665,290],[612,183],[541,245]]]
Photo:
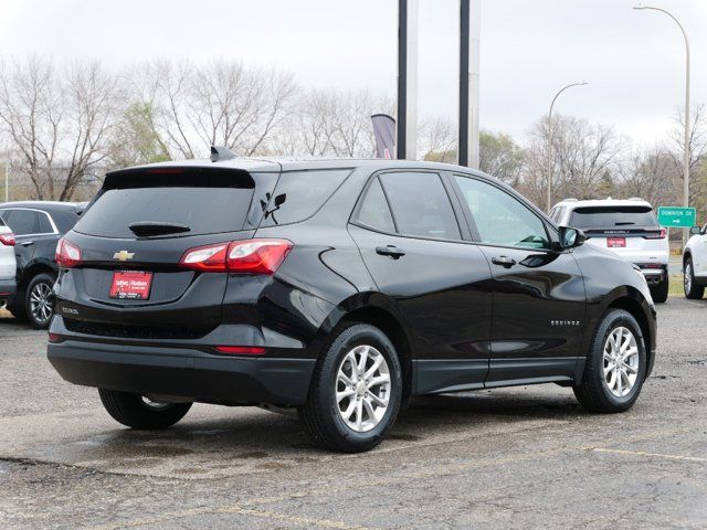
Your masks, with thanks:
[[[572,212],[569,224],[581,229],[588,243],[633,263],[663,262],[668,257],[666,231],[658,225],[650,205],[580,206]]]

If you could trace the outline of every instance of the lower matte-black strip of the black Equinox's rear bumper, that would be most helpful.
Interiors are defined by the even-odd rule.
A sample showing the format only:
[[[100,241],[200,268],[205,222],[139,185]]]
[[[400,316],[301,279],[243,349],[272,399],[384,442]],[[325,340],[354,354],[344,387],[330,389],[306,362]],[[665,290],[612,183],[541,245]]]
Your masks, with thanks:
[[[70,383],[205,403],[302,405],[315,361],[226,358],[198,350],[67,340],[48,357]]]

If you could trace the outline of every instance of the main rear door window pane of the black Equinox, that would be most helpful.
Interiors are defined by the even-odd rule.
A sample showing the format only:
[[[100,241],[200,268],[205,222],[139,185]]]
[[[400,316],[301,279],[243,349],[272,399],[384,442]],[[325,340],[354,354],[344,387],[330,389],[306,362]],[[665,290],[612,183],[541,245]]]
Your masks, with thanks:
[[[402,235],[461,240],[460,226],[437,173],[401,171],[380,177]]]

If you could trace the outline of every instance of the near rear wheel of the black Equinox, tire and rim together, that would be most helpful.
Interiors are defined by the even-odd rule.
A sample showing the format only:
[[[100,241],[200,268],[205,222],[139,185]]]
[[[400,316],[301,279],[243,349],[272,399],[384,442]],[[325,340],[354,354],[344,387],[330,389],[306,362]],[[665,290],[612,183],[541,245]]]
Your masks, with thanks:
[[[298,415],[318,445],[359,453],[386,437],[398,417],[401,395],[393,344],[380,329],[351,324],[339,329],[325,349]]]

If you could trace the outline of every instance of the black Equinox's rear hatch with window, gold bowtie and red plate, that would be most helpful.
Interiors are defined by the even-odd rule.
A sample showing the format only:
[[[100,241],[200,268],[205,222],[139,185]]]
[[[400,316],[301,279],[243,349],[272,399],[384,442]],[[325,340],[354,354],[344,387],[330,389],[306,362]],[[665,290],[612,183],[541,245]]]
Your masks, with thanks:
[[[63,243],[80,256],[57,284],[66,327],[135,338],[208,333],[221,322],[228,273],[184,268],[180,259],[252,237],[276,180],[202,167],[108,174]]]

